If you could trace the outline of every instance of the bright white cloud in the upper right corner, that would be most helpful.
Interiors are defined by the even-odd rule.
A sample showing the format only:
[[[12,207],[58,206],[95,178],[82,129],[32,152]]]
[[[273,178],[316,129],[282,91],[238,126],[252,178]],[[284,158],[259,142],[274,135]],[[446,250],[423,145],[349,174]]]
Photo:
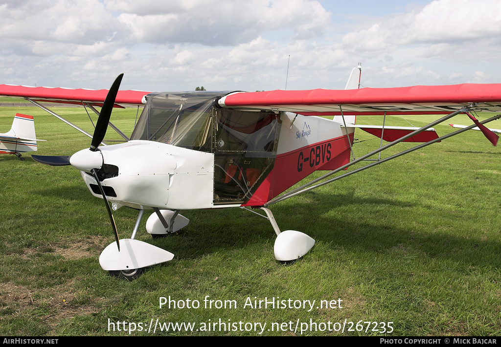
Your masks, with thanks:
[[[389,15],[367,29],[346,34],[343,45],[354,52],[389,52],[402,45],[433,44],[442,48],[499,38],[501,0],[437,0],[420,12]],[[435,52],[434,52],[435,51]]]

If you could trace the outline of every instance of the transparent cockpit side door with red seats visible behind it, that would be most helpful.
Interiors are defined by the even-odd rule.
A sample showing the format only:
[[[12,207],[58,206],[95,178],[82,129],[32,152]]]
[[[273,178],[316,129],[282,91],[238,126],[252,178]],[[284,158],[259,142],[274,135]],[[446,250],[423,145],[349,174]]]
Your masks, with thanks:
[[[217,109],[214,118],[214,204],[244,202],[273,168],[280,117]]]

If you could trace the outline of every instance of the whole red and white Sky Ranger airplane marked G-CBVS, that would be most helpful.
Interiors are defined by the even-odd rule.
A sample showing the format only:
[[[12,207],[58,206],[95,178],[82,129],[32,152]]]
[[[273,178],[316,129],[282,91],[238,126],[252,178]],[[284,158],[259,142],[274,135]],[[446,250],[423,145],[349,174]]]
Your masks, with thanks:
[[[360,66],[346,90],[146,93],[118,91],[121,79],[122,75],[109,92],[0,85],[0,95],[23,97],[37,105],[41,100],[83,103],[99,113],[94,134],[87,134],[92,137],[90,149],[71,157],[32,158],[49,165],[72,165],[81,171],[90,192],[104,198],[116,245],[104,249],[100,264],[128,279],[173,257],[135,239],[145,210],[154,211],[146,229],[158,237],[189,222],[180,210],[248,209],[271,222],[277,233],[275,257],[292,261],[306,254],[315,241],[299,231],[281,232],[270,206],[478,126],[471,112],[501,111],[501,84],[358,89]],[[113,107],[126,104],[144,105],[132,135],[123,135],[126,143],[99,147]],[[101,105],[97,112],[94,107]],[[469,114],[474,124],[438,137],[432,127],[461,113]],[[355,115],[361,114],[444,116],[412,128],[388,127],[384,121],[383,126],[355,125]],[[317,117],[323,115],[334,119]],[[390,143],[355,159],[356,128]],[[495,134],[485,134],[493,144],[497,142]],[[330,178],[402,141],[423,143]],[[318,170],[328,173],[287,191]],[[131,237],[119,239],[112,210],[123,206],[139,210],[139,216]]]

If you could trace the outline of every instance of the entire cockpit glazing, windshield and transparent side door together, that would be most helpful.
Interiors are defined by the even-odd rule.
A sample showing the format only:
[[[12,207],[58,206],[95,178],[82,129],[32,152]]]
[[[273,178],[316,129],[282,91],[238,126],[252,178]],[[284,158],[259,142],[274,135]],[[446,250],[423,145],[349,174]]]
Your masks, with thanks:
[[[149,94],[131,140],[148,140],[214,154],[214,203],[243,202],[271,172],[280,116],[219,108],[226,93]]]

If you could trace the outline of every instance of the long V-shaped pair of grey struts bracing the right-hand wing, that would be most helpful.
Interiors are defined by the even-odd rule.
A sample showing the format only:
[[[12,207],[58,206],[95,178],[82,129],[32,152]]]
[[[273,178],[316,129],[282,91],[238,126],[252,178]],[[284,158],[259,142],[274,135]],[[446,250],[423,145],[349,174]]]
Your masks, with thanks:
[[[327,174],[325,174],[325,175],[323,175],[323,176],[321,176],[321,177],[319,177],[319,178],[317,178],[317,179],[314,179],[314,180],[312,180],[312,181],[310,181],[310,182],[308,182],[308,183],[306,183],[306,184],[302,185],[302,186],[301,186],[301,187],[299,187],[299,188],[293,189],[293,190],[291,190],[290,192],[288,192],[288,193],[286,193],[286,194],[284,194],[284,195],[278,196],[278,197],[276,197],[275,199],[270,200],[270,201],[269,201],[268,203],[266,203],[264,206],[270,206],[270,205],[273,205],[273,204],[275,204],[275,203],[277,203],[277,202],[279,202],[279,201],[283,201],[283,200],[286,200],[286,199],[291,198],[291,197],[293,197],[293,196],[299,195],[299,194],[301,194],[301,193],[303,193],[303,192],[306,192],[306,191],[308,191],[308,190],[311,190],[311,189],[314,189],[314,188],[318,188],[318,187],[320,187],[320,186],[322,186],[322,185],[324,185],[324,184],[327,184],[327,183],[330,183],[330,182],[332,182],[332,181],[335,181],[335,180],[337,180],[337,179],[339,179],[339,178],[341,178],[341,177],[346,177],[346,176],[351,175],[351,174],[353,174],[353,173],[355,173],[355,172],[359,172],[359,171],[365,170],[365,169],[367,169],[367,168],[369,168],[369,167],[372,167],[372,166],[375,166],[375,165],[381,164],[381,163],[386,162],[386,161],[388,161],[388,160],[391,160],[391,159],[397,158],[397,157],[399,157],[399,156],[401,156],[401,155],[403,155],[403,154],[410,153],[410,152],[412,152],[412,151],[414,151],[414,150],[416,150],[416,149],[423,148],[423,147],[428,146],[428,145],[430,145],[430,144],[432,144],[432,143],[435,143],[435,142],[441,141],[441,140],[446,139],[446,138],[448,138],[448,137],[451,137],[451,136],[457,135],[457,134],[459,134],[459,133],[461,133],[461,132],[463,132],[463,131],[466,131],[466,130],[472,129],[473,127],[475,127],[475,126],[476,126],[475,124],[473,124],[473,125],[471,125],[471,126],[469,126],[469,127],[466,127],[466,128],[464,128],[464,129],[457,130],[457,131],[455,131],[455,132],[453,132],[453,133],[450,133],[450,134],[448,134],[448,135],[444,135],[444,136],[442,136],[442,137],[439,137],[438,139],[434,139],[434,140],[432,140],[432,141],[429,141],[429,142],[423,143],[423,144],[421,144],[421,145],[419,145],[419,146],[416,146],[416,147],[413,147],[413,148],[408,149],[408,150],[406,150],[406,151],[403,151],[403,152],[401,152],[401,153],[395,154],[395,155],[393,155],[393,156],[391,156],[391,157],[388,157],[388,158],[382,159],[382,160],[377,161],[377,162],[375,162],[375,163],[373,163],[373,164],[366,165],[366,166],[364,166],[364,167],[362,167],[362,168],[359,168],[359,169],[357,169],[357,170],[351,171],[351,172],[346,173],[346,174],[344,174],[344,175],[341,175],[341,176],[339,176],[339,177],[335,177],[335,178],[330,179],[330,180],[328,180],[328,181],[325,181],[325,182],[319,183],[319,184],[317,184],[317,185],[315,185],[315,186],[312,186],[313,184],[315,184],[315,183],[317,183],[317,182],[319,182],[319,181],[322,181],[322,180],[326,179],[327,177],[329,177],[329,176],[331,176],[331,175],[333,175],[333,174],[335,174],[335,173],[337,173],[337,172],[339,172],[339,171],[341,171],[341,170],[344,170],[344,169],[346,169],[346,168],[348,168],[348,167],[352,166],[353,164],[356,164],[356,163],[358,163],[358,162],[360,162],[360,161],[362,161],[362,160],[365,160],[365,159],[367,159],[367,158],[369,158],[369,157],[371,157],[371,156],[373,156],[373,155],[375,155],[375,154],[378,154],[378,153],[382,152],[383,150],[385,150],[385,149],[387,149],[387,148],[389,148],[389,147],[392,147],[392,146],[396,145],[397,143],[400,143],[400,142],[402,142],[402,141],[404,141],[404,140],[406,140],[406,139],[408,139],[408,138],[410,138],[410,137],[412,137],[412,136],[414,136],[414,135],[416,135],[416,134],[419,134],[420,132],[423,132],[423,131],[425,131],[426,129],[431,128],[431,127],[433,127],[433,126],[435,126],[435,125],[437,125],[437,124],[439,124],[439,123],[441,123],[441,122],[444,122],[444,121],[446,121],[447,119],[449,119],[449,118],[451,118],[451,117],[454,117],[454,116],[456,116],[456,115],[458,115],[458,114],[460,114],[460,113],[466,113],[466,112],[469,112],[470,108],[472,108],[473,106],[475,106],[475,105],[474,105],[474,104],[472,104],[472,105],[469,105],[469,106],[467,106],[467,107],[465,107],[465,108],[462,108],[462,109],[460,109],[460,110],[457,110],[457,111],[454,111],[454,112],[452,112],[452,113],[449,113],[448,115],[446,115],[446,116],[444,116],[444,117],[442,117],[442,118],[440,118],[440,119],[438,119],[438,120],[436,120],[436,121],[434,121],[434,122],[432,122],[432,123],[430,123],[430,124],[428,124],[428,125],[425,125],[424,127],[419,128],[418,130],[413,131],[413,132],[412,132],[412,133],[410,133],[410,134],[407,134],[407,135],[405,135],[405,136],[402,136],[402,137],[401,137],[401,138],[399,138],[398,140],[395,140],[395,141],[393,141],[393,142],[391,142],[391,143],[389,143],[389,144],[387,144],[387,145],[385,145],[385,146],[383,146],[383,147],[380,147],[380,148],[379,148],[379,149],[377,149],[377,150],[374,150],[374,151],[372,151],[372,152],[370,152],[370,153],[368,153],[368,154],[366,154],[366,155],[363,155],[363,156],[359,157],[358,159],[353,160],[353,161],[349,162],[348,164],[345,164],[345,165],[343,165],[343,166],[341,166],[341,167],[337,168],[336,170],[330,171],[330,172],[328,172]],[[494,116],[494,117],[491,117],[491,118],[486,119],[486,120],[484,120],[484,121],[482,121],[482,122],[479,122],[479,123],[484,124],[484,123],[488,123],[488,122],[494,121],[494,120],[499,119],[499,118],[501,118],[501,115],[496,115],[496,116]],[[310,187],[310,186],[311,186],[311,187]]]

